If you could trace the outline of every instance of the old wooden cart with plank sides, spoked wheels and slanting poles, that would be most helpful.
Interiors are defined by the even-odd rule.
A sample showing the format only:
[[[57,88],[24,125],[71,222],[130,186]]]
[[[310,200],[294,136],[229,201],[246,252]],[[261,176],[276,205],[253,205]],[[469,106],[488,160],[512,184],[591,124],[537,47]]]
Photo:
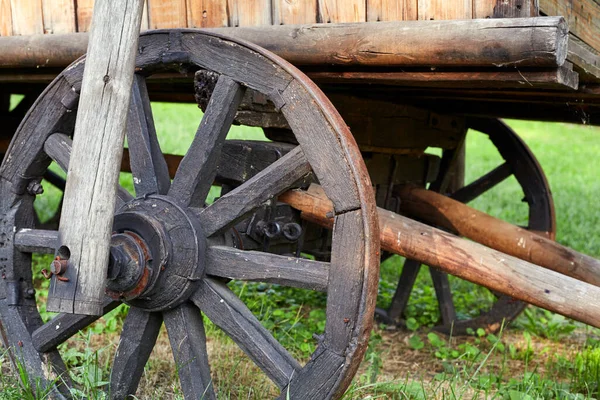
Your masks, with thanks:
[[[48,166],[69,168],[92,3],[0,1],[0,332],[32,382],[67,393],[69,382],[56,380],[58,345],[126,302],[113,398],[135,393],[163,322],[185,397],[214,396],[198,310],[282,398],[337,398],[364,354],[379,259],[391,253],[407,261],[391,308],[377,310],[388,323],[402,318],[424,263],[436,268],[439,330],[496,331],[525,302],[600,326],[600,262],[552,241],[544,173],[497,119],[600,124],[597,0],[149,0],[128,147],[89,154],[123,152],[136,197],[108,196],[117,210],[110,262],[88,282],[64,245],[74,240],[65,224],[41,226],[32,205],[42,179],[67,191],[86,179],[65,182]],[[10,111],[12,94],[25,97]],[[185,157],[163,156],[150,100],[205,111]],[[271,141],[225,141],[233,123],[261,127]],[[465,185],[468,129],[488,135],[505,162]],[[510,176],[525,194],[526,228],[465,205]],[[222,196],[206,206],[215,183]],[[72,221],[65,214],[90,198],[73,201],[55,222]],[[47,306],[61,314],[45,324],[31,253],[56,255]],[[497,302],[457,320],[445,273],[499,293]],[[298,363],[224,279],[326,291],[311,360]],[[95,282],[103,303],[86,292]]]

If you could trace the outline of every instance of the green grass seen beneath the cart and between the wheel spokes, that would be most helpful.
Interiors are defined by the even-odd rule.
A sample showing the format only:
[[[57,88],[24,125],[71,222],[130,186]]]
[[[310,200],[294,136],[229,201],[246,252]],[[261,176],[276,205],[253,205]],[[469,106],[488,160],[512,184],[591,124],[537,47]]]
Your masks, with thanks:
[[[163,151],[185,154],[198,127],[200,110],[195,105],[159,103],[154,105],[154,117]],[[600,130],[586,126],[523,121],[510,121],[510,125],[527,142],[546,171],[556,206],[557,240],[578,251],[600,257],[600,235],[597,233],[600,226],[600,210],[597,207],[597,199],[600,198],[600,164],[596,161],[600,154]],[[229,138],[263,139],[263,136],[259,129],[234,127]],[[468,135],[467,181],[481,176],[501,162],[484,135]],[[130,175],[124,174],[121,181],[125,187],[132,188]],[[45,194],[36,200],[42,219],[51,217],[58,207],[59,192],[52,190],[49,185],[46,188]],[[217,195],[218,190],[215,190],[213,197]],[[516,181],[509,180],[472,205],[499,218],[524,224],[527,209],[521,202],[522,197]],[[37,270],[48,263],[47,257],[38,257],[36,261]],[[389,304],[401,264],[400,257],[393,257],[382,264],[378,306],[386,307]],[[459,279],[452,279],[451,284],[459,316],[468,318],[493,301],[493,296],[486,289]],[[324,295],[265,284],[234,283],[232,288],[296,357],[305,360],[314,351],[313,333],[324,329]],[[83,388],[82,392],[75,393],[76,398],[84,395],[101,398],[98,390],[107,380],[115,344],[98,348],[94,338],[99,335],[113,335],[116,338],[125,313],[124,309],[111,313],[79,335],[74,342],[63,346],[66,362]],[[381,327],[372,336],[363,368],[346,398],[485,397],[512,400],[578,399],[599,395],[600,334],[596,330],[530,308],[518,319],[513,329],[516,333],[511,333],[511,339],[481,332],[473,332],[473,337],[469,339],[430,334],[427,328],[437,323],[439,313],[427,268],[423,268],[419,274],[407,316],[411,318],[409,328],[414,331],[406,334],[406,344],[397,345],[404,346],[407,354],[429,359],[436,365],[436,370],[417,370],[406,376],[389,375],[386,359],[390,351],[389,342],[386,342],[388,334]],[[561,341],[571,340],[569,338],[574,331],[579,334],[584,332],[587,341],[580,344],[577,350],[566,354],[555,351],[554,346],[558,348]],[[212,365],[222,397],[265,397],[271,387],[244,378],[242,370],[246,367],[240,366],[239,353],[231,355],[225,352],[225,349],[235,347],[231,340],[210,322],[207,322],[207,334],[225,354],[219,355],[217,351],[216,361],[213,360]],[[544,342],[546,339],[542,338],[548,340]],[[548,343],[544,344],[547,350],[534,348],[536,343]],[[534,363],[542,356],[542,352],[556,354],[545,363]],[[170,361],[160,357],[153,359],[146,374],[166,373],[168,376],[164,379],[169,382],[173,378],[173,371],[165,372],[165,362],[172,366]],[[510,371],[514,363],[524,366],[523,372],[516,376]],[[20,387],[16,375],[8,372],[8,357],[1,351],[0,371],[0,399],[23,398],[27,388]],[[181,398],[176,382],[164,390],[161,392],[157,389],[151,397]]]

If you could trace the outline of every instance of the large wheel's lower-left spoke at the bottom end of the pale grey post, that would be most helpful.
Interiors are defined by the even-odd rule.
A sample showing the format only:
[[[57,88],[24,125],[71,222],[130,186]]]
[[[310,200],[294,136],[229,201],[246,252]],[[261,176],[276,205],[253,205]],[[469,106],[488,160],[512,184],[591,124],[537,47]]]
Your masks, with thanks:
[[[107,298],[104,301],[103,314],[114,310],[119,304],[121,303]],[[96,315],[58,314],[33,332],[33,346],[40,353],[54,350],[59,344],[66,342],[74,334],[100,317]]]

